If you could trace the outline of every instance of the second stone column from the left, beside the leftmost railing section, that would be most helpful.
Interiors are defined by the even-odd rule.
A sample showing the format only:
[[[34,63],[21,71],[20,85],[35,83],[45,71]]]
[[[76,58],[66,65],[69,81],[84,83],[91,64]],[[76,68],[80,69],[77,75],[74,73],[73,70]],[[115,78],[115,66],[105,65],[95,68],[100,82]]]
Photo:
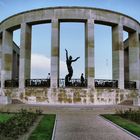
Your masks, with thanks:
[[[20,66],[19,66],[19,89],[20,90],[24,90],[25,80],[30,79],[31,35],[32,35],[31,26],[26,23],[22,23],[21,35],[20,35]]]

